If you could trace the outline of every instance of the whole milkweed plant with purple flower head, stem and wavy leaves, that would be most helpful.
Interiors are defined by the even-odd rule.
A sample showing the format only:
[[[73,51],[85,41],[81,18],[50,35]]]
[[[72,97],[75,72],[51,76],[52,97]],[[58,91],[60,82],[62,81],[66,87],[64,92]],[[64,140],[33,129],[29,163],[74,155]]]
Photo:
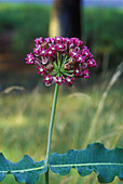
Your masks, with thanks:
[[[58,88],[62,84],[73,86],[80,78],[90,78],[96,61],[88,48],[78,38],[37,38],[33,52],[27,54],[26,64],[35,65],[37,73],[43,77],[46,87],[55,84],[51,121],[49,127],[45,159],[33,161],[25,155],[13,163],[0,154],[0,181],[5,174],[13,174],[19,183],[35,184],[40,174],[45,174],[45,184],[50,183],[49,171],[66,175],[72,168],[81,176],[97,173],[100,183],[110,183],[114,176],[123,180],[123,149],[107,149],[101,143],[93,143],[85,149],[70,149],[65,154],[51,154],[52,130],[56,111]]]

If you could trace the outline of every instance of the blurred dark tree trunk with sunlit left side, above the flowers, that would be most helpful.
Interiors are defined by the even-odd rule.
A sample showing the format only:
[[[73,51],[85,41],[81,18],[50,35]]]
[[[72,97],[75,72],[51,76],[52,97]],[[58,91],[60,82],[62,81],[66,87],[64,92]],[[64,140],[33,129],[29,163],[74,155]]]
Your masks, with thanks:
[[[80,0],[54,0],[49,34],[81,38]]]

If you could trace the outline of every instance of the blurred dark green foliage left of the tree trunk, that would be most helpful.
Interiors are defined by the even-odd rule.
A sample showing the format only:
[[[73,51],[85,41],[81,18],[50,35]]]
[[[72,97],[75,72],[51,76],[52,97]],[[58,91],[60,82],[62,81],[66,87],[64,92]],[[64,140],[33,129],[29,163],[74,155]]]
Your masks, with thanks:
[[[50,11],[50,6],[1,3],[0,34],[13,31],[13,51],[27,52],[37,37],[47,36]]]

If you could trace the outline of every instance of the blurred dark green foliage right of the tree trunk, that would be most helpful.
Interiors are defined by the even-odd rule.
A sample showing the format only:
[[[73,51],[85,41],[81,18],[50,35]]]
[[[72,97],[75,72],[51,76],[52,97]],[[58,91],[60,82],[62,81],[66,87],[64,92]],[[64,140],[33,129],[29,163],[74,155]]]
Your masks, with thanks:
[[[123,60],[123,9],[84,9],[83,26],[85,39],[96,55],[109,54],[110,67]]]

